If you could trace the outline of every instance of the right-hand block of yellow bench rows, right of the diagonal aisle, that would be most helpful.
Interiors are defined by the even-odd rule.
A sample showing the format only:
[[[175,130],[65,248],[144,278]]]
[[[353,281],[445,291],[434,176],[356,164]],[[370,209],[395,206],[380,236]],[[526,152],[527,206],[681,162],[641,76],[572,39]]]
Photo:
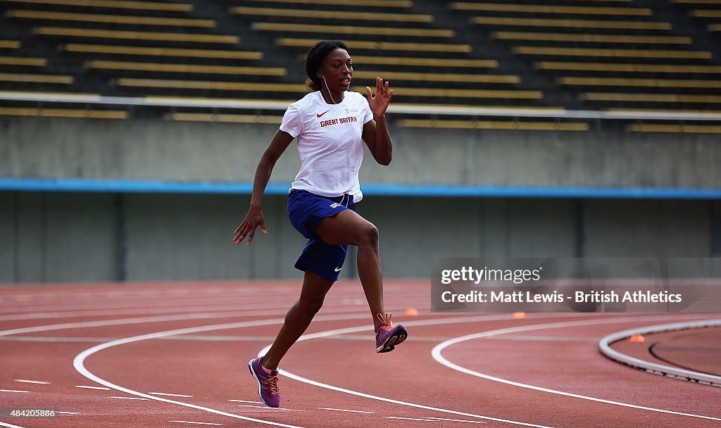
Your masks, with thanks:
[[[508,46],[585,108],[705,109],[721,96],[709,76],[720,71],[715,54],[676,31],[683,22],[667,20],[673,17],[668,4],[508,0],[448,6],[471,14],[469,22],[482,35]]]

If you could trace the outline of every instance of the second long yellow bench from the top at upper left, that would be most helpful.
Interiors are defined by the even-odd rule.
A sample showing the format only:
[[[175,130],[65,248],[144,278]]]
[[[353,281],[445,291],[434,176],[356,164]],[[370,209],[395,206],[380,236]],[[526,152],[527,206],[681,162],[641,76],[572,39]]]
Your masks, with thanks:
[[[213,28],[213,19],[157,18],[137,17],[128,15],[107,14],[76,14],[68,12],[46,12],[35,10],[9,10],[6,17],[25,19],[45,19],[50,21],[99,22],[102,24],[157,25],[169,27],[203,27]]]

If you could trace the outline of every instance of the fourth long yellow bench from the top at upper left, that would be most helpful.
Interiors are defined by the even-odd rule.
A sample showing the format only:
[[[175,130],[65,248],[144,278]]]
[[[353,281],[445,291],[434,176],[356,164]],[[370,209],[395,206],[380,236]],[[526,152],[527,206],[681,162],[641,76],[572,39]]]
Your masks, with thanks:
[[[249,52],[244,50],[140,48],[137,46],[83,45],[79,43],[62,45],[61,49],[66,52],[107,53],[115,55],[182,56],[190,58],[248,60],[260,60],[263,58],[262,52]]]

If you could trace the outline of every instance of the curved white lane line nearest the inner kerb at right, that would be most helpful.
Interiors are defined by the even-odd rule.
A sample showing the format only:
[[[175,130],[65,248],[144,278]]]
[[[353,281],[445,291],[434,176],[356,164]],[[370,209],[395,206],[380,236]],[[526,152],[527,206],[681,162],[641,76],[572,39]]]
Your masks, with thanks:
[[[693,316],[688,316],[688,317],[693,317]],[[688,317],[684,316],[684,317],[674,317],[674,318],[678,319],[678,318],[688,318]],[[442,365],[445,365],[446,367],[452,368],[454,370],[458,370],[461,373],[466,373],[466,375],[472,375],[472,376],[476,376],[476,377],[482,378],[482,379],[493,380],[495,382],[505,383],[506,385],[519,386],[521,388],[528,388],[528,389],[532,389],[534,391],[558,394],[559,396],[580,398],[582,400],[588,400],[588,401],[596,401],[598,403],[613,404],[614,406],[630,407],[632,409],[640,409],[640,410],[647,410],[647,411],[657,411],[660,413],[676,414],[679,416],[689,416],[692,418],[699,418],[699,419],[710,419],[712,421],[721,421],[721,418],[715,418],[712,416],[684,413],[681,411],[672,411],[672,410],[666,410],[666,409],[655,409],[653,407],[648,407],[648,406],[638,406],[636,404],[628,404],[628,403],[622,403],[620,401],[606,400],[603,398],[582,396],[580,394],[569,393],[569,392],[565,392],[565,391],[558,391],[558,390],[550,389],[550,388],[542,388],[542,387],[536,386],[536,385],[528,385],[527,383],[520,383],[520,382],[514,382],[513,380],[497,378],[492,375],[487,375],[485,373],[479,373],[474,370],[470,370],[466,367],[463,367],[461,365],[457,365],[453,362],[446,360],[446,358],[443,357],[443,355],[441,355],[441,352],[443,351],[443,349],[446,349],[447,347],[451,346],[452,344],[466,342],[468,340],[473,340],[473,339],[480,339],[480,338],[487,337],[487,336],[497,336],[500,334],[511,334],[511,333],[517,333],[519,331],[563,329],[563,328],[567,328],[567,327],[593,326],[593,325],[601,325],[601,324],[618,324],[618,323],[624,323],[624,322],[640,322],[640,321],[643,321],[643,322],[668,321],[668,316],[626,317],[626,318],[611,318],[611,319],[565,321],[565,322],[548,323],[548,324],[534,324],[534,325],[530,325],[530,326],[510,327],[508,329],[482,331],[481,333],[467,334],[466,336],[459,336],[459,337],[455,337],[454,339],[446,340],[446,342],[440,343],[440,344],[436,345],[435,347],[433,347],[433,350],[430,352],[430,354],[433,357],[433,360],[436,360],[437,362],[441,363]]]

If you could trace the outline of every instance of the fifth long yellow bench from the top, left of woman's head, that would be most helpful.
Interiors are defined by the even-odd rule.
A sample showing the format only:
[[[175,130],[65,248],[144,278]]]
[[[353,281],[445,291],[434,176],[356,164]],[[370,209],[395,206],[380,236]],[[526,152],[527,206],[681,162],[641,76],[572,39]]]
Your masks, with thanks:
[[[165,73],[206,73],[206,74],[260,74],[286,76],[286,68],[202,66],[197,64],[138,63],[131,61],[87,61],[87,68],[105,70],[162,71]]]

